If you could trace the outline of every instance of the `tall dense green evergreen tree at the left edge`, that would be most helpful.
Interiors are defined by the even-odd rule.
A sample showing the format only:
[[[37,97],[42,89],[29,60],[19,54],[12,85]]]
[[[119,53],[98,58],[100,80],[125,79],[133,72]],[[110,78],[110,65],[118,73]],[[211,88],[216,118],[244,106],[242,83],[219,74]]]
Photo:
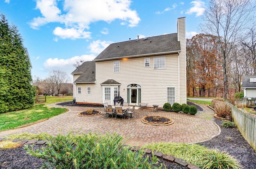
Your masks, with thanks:
[[[0,113],[30,108],[36,90],[31,64],[16,26],[0,14]]]

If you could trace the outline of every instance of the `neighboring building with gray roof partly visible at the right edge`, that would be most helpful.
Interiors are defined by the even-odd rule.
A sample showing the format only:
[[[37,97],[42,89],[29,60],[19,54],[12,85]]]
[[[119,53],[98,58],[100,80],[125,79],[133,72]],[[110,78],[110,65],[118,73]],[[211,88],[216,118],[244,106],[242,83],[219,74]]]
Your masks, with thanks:
[[[244,98],[256,98],[256,75],[243,76]]]

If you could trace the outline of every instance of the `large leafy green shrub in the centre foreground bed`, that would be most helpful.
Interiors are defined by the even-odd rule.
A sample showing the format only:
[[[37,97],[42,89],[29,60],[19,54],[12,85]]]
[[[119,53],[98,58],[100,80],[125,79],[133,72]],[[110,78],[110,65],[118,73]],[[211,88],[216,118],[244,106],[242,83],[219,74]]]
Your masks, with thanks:
[[[142,158],[143,150],[132,152],[128,146],[123,146],[122,136],[114,134],[83,134],[74,135],[69,132],[66,136],[58,134],[49,138],[48,145],[33,149],[25,145],[28,154],[43,160],[44,168],[78,169],[78,168],[151,168],[158,163],[153,155],[151,162],[148,157]],[[93,167],[92,167],[93,166]]]

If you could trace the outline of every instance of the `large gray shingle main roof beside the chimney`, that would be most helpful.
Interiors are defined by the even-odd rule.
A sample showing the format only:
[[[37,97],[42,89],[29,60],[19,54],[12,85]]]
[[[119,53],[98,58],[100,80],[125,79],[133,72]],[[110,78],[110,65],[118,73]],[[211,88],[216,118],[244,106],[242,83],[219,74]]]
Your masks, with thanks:
[[[112,43],[94,61],[180,51],[177,33]]]

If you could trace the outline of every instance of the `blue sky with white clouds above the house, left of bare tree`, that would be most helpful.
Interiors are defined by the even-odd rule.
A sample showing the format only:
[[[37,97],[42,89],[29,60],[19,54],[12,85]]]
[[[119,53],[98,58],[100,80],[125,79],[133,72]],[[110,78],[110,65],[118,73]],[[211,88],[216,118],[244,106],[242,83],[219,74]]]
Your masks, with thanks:
[[[93,60],[110,43],[177,32],[199,33],[208,0],[0,0],[0,13],[18,27],[32,77],[51,70],[70,75],[76,61]],[[70,75],[71,79],[72,75]]]

